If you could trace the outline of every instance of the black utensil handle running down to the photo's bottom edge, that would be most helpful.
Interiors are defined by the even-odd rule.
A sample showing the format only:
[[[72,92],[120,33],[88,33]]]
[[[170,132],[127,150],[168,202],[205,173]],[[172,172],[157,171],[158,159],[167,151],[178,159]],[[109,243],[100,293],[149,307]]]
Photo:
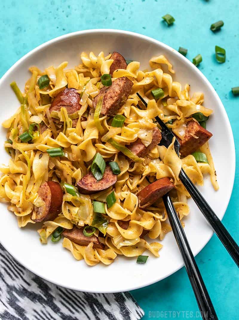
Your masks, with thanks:
[[[187,270],[189,280],[192,284],[192,289],[194,291],[201,316],[204,320],[217,320],[218,317],[214,310],[212,301],[206,290],[206,286],[203,282],[196,261],[193,257],[184,229],[177,216],[177,212],[175,211],[174,205],[168,193],[163,196],[163,203],[168,213],[169,222],[177,241],[177,245],[182,254],[185,268]]]

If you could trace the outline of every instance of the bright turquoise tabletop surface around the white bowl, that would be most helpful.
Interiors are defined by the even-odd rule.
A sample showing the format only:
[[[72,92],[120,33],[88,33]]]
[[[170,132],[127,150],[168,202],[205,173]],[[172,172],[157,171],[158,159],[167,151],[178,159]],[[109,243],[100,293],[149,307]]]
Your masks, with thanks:
[[[167,27],[161,19],[166,13],[170,13],[176,20],[170,27]],[[0,76],[36,46],[54,37],[84,29],[130,30],[153,37],[175,49],[183,46],[188,49],[189,60],[192,61],[198,53],[203,57],[199,69],[214,86],[227,111],[238,161],[239,96],[234,97],[231,93],[231,87],[239,86],[238,16],[236,0],[2,0]],[[214,34],[209,28],[211,23],[218,20],[224,21],[224,27]],[[219,64],[215,60],[215,45],[226,49],[227,59],[224,64]],[[223,223],[239,243],[238,191],[237,168],[232,197]],[[218,318],[239,319],[238,268],[215,235],[197,255],[196,261]],[[161,272],[160,263],[158,272]],[[179,316],[174,315],[176,319],[197,318],[198,307],[185,268],[159,283],[134,290],[132,294],[145,311],[144,319],[153,318],[155,314],[150,312],[170,310],[181,311]],[[155,316],[155,318],[173,318],[173,314],[170,316],[169,313],[156,313]]]

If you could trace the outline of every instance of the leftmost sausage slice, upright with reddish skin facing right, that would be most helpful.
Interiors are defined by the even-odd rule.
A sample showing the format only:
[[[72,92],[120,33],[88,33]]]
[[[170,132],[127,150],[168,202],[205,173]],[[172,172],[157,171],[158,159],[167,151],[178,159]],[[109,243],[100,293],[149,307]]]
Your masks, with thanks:
[[[54,220],[62,210],[63,193],[60,184],[55,181],[44,182],[38,190],[38,195],[45,205],[36,207],[36,218],[33,221]]]

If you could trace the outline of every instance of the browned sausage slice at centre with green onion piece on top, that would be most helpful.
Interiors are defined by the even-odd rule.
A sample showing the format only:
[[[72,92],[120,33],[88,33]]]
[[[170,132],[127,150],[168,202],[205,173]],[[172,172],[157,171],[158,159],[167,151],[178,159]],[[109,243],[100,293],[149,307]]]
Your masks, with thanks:
[[[77,182],[77,187],[80,193],[89,195],[111,187],[117,181],[117,174],[113,174],[111,168],[106,166],[103,178],[99,181],[91,172],[87,173],[80,181]]]

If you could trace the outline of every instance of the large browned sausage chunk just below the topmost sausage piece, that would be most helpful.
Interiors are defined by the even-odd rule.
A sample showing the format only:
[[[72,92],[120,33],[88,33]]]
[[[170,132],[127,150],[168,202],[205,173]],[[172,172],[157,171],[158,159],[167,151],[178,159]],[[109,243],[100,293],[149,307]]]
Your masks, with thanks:
[[[100,89],[93,100],[93,107],[96,108],[99,98],[103,97],[101,114],[115,116],[120,108],[120,103],[128,98],[132,86],[133,82],[127,77],[117,78],[111,86]]]

